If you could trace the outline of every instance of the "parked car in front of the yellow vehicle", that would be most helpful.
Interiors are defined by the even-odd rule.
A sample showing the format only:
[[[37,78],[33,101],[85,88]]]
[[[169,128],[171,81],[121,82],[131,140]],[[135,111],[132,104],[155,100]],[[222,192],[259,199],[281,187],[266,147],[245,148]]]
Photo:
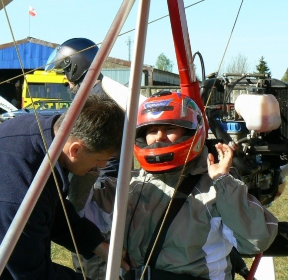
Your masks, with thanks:
[[[20,110],[5,112],[1,114],[0,121],[4,122],[22,114],[34,114],[33,104],[35,106],[35,112],[41,116],[53,116],[55,114],[62,114],[70,107],[71,103],[72,100],[70,99],[46,99],[34,101],[33,103]]]

